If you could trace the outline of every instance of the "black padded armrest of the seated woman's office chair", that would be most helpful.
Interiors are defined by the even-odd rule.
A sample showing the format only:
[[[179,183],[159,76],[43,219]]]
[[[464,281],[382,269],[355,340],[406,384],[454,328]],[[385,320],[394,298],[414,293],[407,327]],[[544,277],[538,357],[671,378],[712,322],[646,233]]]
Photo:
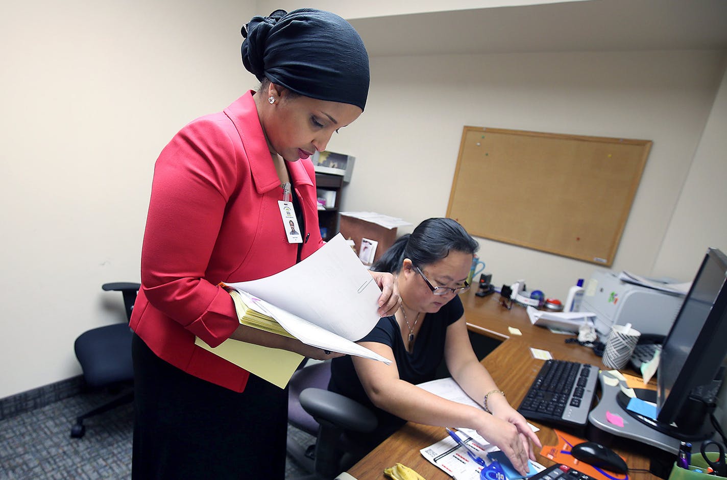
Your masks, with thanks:
[[[322,388],[306,388],[300,392],[300,405],[318,423],[324,420],[345,430],[369,433],[378,424],[371,410],[358,401]]]

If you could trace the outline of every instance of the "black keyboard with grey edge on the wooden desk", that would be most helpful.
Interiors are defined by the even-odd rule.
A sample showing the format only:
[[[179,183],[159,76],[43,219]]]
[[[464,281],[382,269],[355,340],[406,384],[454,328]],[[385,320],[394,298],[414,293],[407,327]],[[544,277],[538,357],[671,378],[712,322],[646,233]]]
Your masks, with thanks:
[[[598,367],[574,361],[547,360],[518,412],[529,420],[584,427],[598,381]]]

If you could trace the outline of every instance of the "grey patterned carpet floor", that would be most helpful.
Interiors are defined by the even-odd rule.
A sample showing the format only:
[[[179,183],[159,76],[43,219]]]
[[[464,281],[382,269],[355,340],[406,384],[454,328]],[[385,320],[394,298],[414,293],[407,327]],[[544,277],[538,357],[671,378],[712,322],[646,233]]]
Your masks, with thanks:
[[[108,393],[84,393],[0,421],[0,479],[130,479],[132,405],[84,421],[86,435],[71,438],[81,412],[103,404]],[[289,437],[308,446],[313,437],[289,427]],[[286,479],[303,475],[286,461]]]

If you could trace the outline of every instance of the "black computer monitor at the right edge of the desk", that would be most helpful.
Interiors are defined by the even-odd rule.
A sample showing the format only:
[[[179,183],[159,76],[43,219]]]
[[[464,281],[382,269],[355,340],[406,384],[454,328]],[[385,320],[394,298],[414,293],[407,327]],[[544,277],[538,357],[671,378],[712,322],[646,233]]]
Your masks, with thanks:
[[[727,256],[710,248],[670,329],[656,377],[657,422],[702,428],[727,357]],[[716,381],[715,381],[716,380]],[[706,402],[706,403],[705,403]],[[673,433],[673,432],[670,432]]]

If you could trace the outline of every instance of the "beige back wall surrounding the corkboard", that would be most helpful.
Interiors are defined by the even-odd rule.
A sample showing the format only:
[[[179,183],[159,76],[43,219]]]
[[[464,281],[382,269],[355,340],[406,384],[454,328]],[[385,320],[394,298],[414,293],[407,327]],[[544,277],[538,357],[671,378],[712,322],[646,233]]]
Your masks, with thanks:
[[[371,209],[414,224],[446,215],[464,125],[653,140],[613,268],[688,280],[705,239],[683,233],[681,226],[674,226],[679,232],[675,248],[690,252],[691,262],[668,272],[654,265],[675,208],[691,203],[682,198],[688,175],[696,176],[691,181],[699,185],[704,176],[707,185],[718,183],[709,172],[693,168],[692,159],[724,60],[724,52],[708,51],[374,58],[366,112],[340,135],[345,151],[357,157],[344,208]],[[698,162],[724,165],[725,150],[711,149],[716,156]],[[517,175],[527,172],[513,172]],[[502,221],[565,221],[507,217],[506,208],[487,194],[487,183],[497,179],[481,181],[482,194],[472,199],[473,208],[502,209]],[[371,188],[377,183],[381,186]],[[723,190],[714,185],[706,193],[715,207],[704,215],[705,222],[717,215],[725,223]],[[710,241],[725,243],[723,235]],[[481,247],[495,284],[526,279],[530,289],[561,299],[576,279],[598,268],[486,239]]]

